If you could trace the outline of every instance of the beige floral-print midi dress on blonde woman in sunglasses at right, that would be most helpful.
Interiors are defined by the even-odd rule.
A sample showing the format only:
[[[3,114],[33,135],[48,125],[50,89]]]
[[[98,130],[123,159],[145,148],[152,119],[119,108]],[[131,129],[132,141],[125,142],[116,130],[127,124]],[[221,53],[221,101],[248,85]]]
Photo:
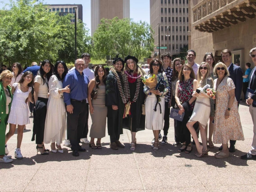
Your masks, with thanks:
[[[214,80],[214,89],[216,90],[217,79]],[[236,99],[230,109],[229,118],[225,119],[225,112],[228,109],[229,92],[235,88],[231,78],[224,77],[219,83],[216,92],[216,110],[214,119],[214,143],[228,143],[229,140],[244,140],[238,105]]]

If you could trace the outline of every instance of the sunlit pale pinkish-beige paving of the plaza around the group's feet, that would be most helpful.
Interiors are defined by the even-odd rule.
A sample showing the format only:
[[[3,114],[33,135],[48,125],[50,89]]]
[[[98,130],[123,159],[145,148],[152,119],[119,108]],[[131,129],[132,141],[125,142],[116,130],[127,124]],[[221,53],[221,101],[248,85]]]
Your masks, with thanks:
[[[24,130],[21,151],[23,160],[0,164],[1,192],[234,192],[256,190],[256,160],[241,160],[248,152],[253,137],[253,124],[248,106],[239,106],[245,141],[238,141],[236,152],[229,158],[215,159],[220,145],[210,149],[209,155],[197,158],[196,146],[191,154],[178,153],[173,146],[174,127],[170,119],[169,143],[158,151],[150,148],[153,133],[137,133],[135,151],[130,151],[131,134],[124,129],[120,141],[125,148],[111,150],[109,136],[102,139],[102,149],[93,150],[82,144],[86,152],[72,156],[69,147],[64,154],[37,155],[36,144],[31,142],[31,123]],[[100,120],[100,119],[99,119]],[[89,128],[91,119],[89,119]],[[9,155],[16,148],[17,133],[9,140]],[[89,135],[88,135],[89,136]],[[96,141],[95,141],[96,142]],[[64,143],[63,143],[64,144]],[[50,145],[46,145],[50,149]]]

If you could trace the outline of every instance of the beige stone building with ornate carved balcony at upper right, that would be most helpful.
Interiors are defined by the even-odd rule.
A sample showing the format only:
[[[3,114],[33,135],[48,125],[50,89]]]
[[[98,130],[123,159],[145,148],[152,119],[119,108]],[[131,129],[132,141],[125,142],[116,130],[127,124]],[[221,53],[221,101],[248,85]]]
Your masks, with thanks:
[[[221,60],[220,52],[229,49],[233,63],[252,64],[249,51],[256,47],[256,0],[192,0],[191,47],[202,62],[206,52]]]

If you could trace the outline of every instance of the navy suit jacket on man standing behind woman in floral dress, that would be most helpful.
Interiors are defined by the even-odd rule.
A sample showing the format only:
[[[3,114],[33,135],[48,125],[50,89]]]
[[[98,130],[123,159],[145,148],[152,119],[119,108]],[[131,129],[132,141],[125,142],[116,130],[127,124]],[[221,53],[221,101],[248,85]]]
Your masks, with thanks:
[[[229,78],[231,78],[235,84],[235,96],[238,103],[242,93],[242,69],[235,64],[231,63],[229,66]]]

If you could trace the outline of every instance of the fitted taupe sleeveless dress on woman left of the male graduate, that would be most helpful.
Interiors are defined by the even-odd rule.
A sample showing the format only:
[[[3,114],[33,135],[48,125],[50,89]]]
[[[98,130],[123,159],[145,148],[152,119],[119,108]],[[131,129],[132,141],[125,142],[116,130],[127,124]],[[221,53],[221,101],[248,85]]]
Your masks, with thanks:
[[[105,106],[105,93],[106,86],[99,85],[99,88],[96,90],[96,86],[93,88],[97,92],[96,99],[92,99],[92,106],[94,109],[93,114],[91,114],[91,130],[90,137],[92,138],[102,138],[105,137],[106,132],[106,121],[108,108]]]

